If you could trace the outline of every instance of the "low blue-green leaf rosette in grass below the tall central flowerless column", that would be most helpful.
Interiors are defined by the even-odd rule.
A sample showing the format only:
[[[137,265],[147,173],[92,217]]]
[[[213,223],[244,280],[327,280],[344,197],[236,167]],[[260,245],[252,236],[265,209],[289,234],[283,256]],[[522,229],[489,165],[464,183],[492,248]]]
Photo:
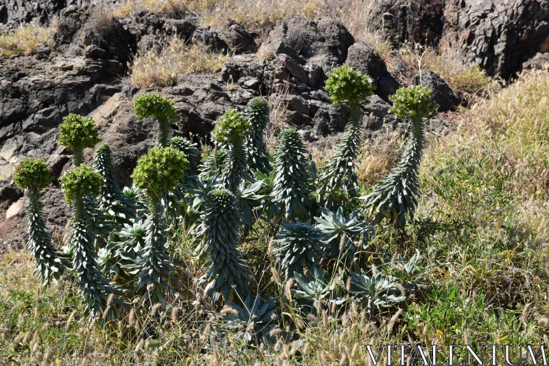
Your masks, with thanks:
[[[276,303],[277,298],[272,298],[261,304],[260,295],[255,299],[248,295],[242,306],[229,301],[228,305],[235,310],[236,314],[229,312],[226,314],[226,319],[236,323],[237,328],[245,330],[246,341],[259,345],[264,337],[277,327]]]

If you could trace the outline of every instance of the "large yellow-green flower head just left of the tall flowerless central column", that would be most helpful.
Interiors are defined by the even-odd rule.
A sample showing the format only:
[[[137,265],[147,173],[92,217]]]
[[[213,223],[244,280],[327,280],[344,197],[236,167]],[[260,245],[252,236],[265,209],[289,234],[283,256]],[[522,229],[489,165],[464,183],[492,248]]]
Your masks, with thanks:
[[[132,179],[136,187],[147,192],[153,201],[162,197],[164,190],[171,190],[187,169],[187,158],[175,148],[152,148],[137,162]]]

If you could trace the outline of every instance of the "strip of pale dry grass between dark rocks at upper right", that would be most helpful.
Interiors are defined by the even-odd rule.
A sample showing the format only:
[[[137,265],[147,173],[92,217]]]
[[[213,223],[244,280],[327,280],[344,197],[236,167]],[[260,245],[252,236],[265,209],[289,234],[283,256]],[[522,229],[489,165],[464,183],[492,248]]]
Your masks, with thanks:
[[[414,45],[403,47],[400,54],[415,69],[428,69],[438,73],[456,91],[484,94],[498,87],[478,66],[465,65],[460,55],[451,50],[441,54],[438,49]]]

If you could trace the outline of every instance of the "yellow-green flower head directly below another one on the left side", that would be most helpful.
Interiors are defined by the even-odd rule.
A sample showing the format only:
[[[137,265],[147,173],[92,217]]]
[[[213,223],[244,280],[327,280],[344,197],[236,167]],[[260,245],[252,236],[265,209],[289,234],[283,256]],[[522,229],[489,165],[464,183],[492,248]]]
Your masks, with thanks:
[[[103,176],[88,165],[67,170],[61,176],[61,187],[65,191],[65,201],[73,203],[85,196],[99,194],[103,185]]]

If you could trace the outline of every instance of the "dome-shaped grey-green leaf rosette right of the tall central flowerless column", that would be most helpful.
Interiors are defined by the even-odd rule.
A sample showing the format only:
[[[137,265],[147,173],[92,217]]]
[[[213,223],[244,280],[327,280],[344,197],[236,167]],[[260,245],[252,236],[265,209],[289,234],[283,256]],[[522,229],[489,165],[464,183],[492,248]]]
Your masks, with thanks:
[[[310,224],[310,222],[288,222],[282,224],[277,233],[277,245],[274,253],[279,255],[281,271],[285,271],[285,278],[294,276],[294,273],[318,271],[320,260],[326,258],[326,237],[324,233]]]

